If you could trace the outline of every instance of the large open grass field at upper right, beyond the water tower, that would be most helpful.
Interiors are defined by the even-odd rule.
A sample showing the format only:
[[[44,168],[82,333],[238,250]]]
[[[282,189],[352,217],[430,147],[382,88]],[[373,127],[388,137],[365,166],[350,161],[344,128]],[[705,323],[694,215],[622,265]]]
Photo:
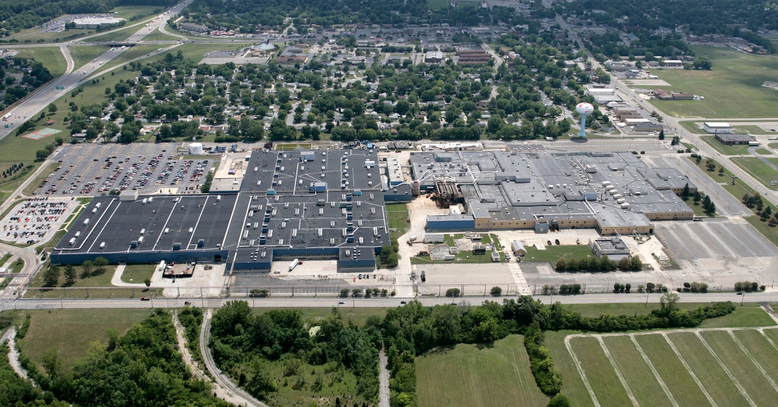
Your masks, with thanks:
[[[700,118],[771,118],[778,91],[762,86],[774,81],[778,59],[744,54],[725,47],[692,46],[697,57],[713,61],[710,71],[652,69],[671,84],[664,89],[705,96],[705,100],[654,100],[661,111]]]

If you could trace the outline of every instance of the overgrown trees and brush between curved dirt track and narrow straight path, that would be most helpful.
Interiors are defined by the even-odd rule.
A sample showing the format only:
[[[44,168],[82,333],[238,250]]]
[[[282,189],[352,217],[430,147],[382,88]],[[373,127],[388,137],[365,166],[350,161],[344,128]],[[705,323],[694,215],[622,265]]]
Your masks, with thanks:
[[[211,333],[219,367],[272,405],[294,405],[292,399],[307,405],[322,395],[349,405],[377,403],[380,318],[358,327],[333,308],[309,332],[300,311],[253,315],[246,301],[230,301],[214,314]]]

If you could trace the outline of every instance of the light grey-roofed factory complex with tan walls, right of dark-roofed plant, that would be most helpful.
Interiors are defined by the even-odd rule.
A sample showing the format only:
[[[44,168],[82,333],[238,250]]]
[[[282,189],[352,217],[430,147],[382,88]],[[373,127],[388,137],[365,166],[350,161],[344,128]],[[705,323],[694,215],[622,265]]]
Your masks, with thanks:
[[[653,220],[692,219],[676,193],[696,185],[632,153],[411,153],[415,188],[464,214],[428,216],[427,230],[594,228],[652,233]]]

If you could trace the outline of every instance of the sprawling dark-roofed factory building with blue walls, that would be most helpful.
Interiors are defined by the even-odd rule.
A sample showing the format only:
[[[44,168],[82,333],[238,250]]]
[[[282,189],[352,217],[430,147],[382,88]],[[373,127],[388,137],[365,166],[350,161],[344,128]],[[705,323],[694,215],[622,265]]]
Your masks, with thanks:
[[[273,261],[336,259],[338,271],[370,271],[390,241],[384,191],[401,193],[385,178],[372,150],[255,151],[237,194],[94,198],[51,261],[224,261],[268,272]]]

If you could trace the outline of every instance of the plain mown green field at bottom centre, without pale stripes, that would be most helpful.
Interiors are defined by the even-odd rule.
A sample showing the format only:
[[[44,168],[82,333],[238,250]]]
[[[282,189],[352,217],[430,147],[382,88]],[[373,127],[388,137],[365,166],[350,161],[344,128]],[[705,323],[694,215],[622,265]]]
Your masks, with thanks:
[[[545,405],[522,341],[510,335],[493,346],[459,344],[417,357],[419,406]]]

